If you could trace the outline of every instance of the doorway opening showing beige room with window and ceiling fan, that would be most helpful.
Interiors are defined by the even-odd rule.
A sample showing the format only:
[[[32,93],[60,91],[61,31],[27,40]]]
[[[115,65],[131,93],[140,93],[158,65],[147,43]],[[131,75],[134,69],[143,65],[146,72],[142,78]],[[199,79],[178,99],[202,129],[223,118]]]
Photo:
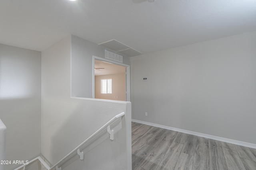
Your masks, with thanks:
[[[130,66],[93,56],[93,98],[130,101]]]

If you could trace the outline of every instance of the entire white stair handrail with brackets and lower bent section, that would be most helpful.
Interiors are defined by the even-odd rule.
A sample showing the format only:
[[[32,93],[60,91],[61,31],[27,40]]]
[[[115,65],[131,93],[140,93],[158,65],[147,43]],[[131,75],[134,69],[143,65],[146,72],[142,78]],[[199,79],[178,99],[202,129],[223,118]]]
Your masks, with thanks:
[[[105,125],[103,125],[100,129],[98,129],[95,133],[93,133],[90,137],[88,137],[84,142],[82,142],[80,145],[78,145],[78,147],[76,147],[74,150],[72,150],[71,152],[69,152],[66,156],[64,156],[60,161],[58,161],[54,166],[50,167],[48,166],[48,164],[46,164],[46,162],[44,162],[44,160],[38,156],[32,160],[30,160],[28,162],[28,164],[36,161],[36,160],[39,160],[42,165],[47,169],[47,170],[61,170],[61,168],[59,168],[58,166],[61,166],[62,164],[64,164],[66,161],[68,161],[70,158],[72,158],[75,154],[78,154],[80,156],[80,159],[83,160],[83,152],[80,152],[80,149],[86,145],[86,143],[88,143],[90,140],[92,140],[94,137],[96,137],[101,131],[103,131],[105,128],[108,129],[108,133],[109,133],[109,129],[110,129],[110,124],[113,123],[114,121],[116,121],[116,119],[118,119],[119,117],[122,117],[123,115],[125,115],[124,112],[114,116],[112,119],[110,119],[110,121],[108,121]],[[111,131],[111,130],[110,130]],[[111,136],[112,134],[112,136]],[[112,133],[110,134],[110,139],[112,140],[113,138],[113,131]],[[81,158],[82,157],[82,158]],[[28,164],[24,164],[14,170],[20,170],[21,168],[24,168],[25,166],[28,166]]]

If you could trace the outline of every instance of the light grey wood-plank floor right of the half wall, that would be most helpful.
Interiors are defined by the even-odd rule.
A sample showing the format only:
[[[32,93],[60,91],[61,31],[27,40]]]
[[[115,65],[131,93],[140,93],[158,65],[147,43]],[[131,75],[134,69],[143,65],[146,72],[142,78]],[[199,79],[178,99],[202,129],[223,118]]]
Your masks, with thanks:
[[[133,170],[256,170],[256,149],[132,122]]]

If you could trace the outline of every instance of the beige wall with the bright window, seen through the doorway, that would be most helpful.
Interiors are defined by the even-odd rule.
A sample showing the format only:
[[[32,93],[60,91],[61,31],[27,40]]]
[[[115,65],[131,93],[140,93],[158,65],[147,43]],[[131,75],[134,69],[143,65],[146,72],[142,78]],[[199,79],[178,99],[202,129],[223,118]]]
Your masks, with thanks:
[[[124,68],[125,69],[125,68]],[[101,79],[112,78],[112,94],[101,94]],[[110,74],[104,76],[95,76],[95,98],[121,100],[126,101],[125,98],[125,73],[123,74]]]

